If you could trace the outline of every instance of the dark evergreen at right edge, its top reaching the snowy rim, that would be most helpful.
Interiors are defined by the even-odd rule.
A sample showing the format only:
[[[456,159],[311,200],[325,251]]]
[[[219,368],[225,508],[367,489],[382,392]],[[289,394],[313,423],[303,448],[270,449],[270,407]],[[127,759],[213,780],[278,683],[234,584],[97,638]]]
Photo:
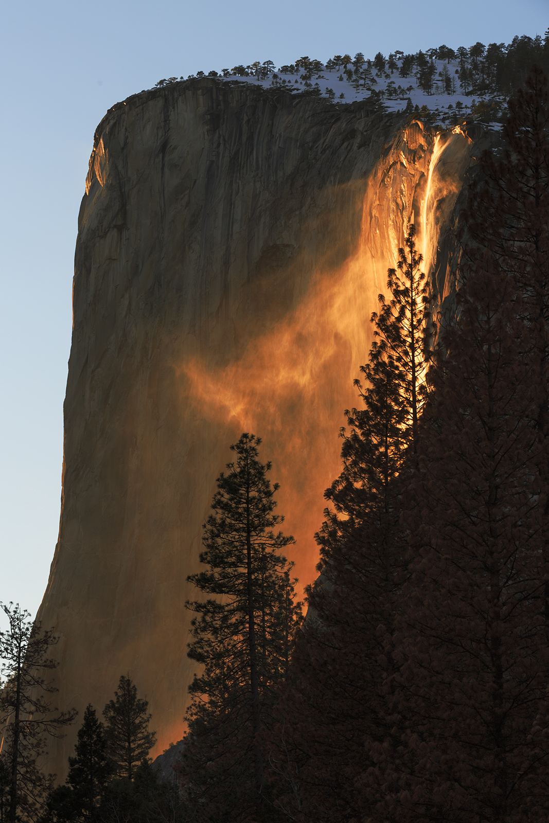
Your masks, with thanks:
[[[491,249],[495,260],[514,281],[520,314],[530,333],[525,351],[534,369],[537,399],[533,425],[541,441],[549,437],[549,88],[542,70],[533,67],[509,100],[504,126],[505,146],[499,156],[486,151],[481,175],[472,188],[465,215],[474,245]],[[473,260],[470,261],[472,263]],[[538,463],[539,492],[549,518],[549,465]],[[549,533],[544,554],[549,562]],[[549,588],[544,595],[549,627]]]

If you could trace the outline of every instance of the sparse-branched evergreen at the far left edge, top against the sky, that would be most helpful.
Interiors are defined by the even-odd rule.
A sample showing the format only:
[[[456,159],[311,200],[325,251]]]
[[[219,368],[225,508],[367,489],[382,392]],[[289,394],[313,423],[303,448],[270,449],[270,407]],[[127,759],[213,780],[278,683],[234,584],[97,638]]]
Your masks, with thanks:
[[[59,712],[48,698],[57,689],[42,677],[44,671],[58,666],[48,657],[58,640],[54,631],[42,631],[40,623],[30,621],[30,613],[18,604],[0,605],[9,621],[9,629],[0,632],[1,671],[7,678],[0,692],[2,774],[9,768],[6,820],[16,823],[21,813],[34,814],[51,787],[53,776],[46,776],[36,765],[44,754],[46,737],[63,737],[61,730],[74,721],[77,712]]]

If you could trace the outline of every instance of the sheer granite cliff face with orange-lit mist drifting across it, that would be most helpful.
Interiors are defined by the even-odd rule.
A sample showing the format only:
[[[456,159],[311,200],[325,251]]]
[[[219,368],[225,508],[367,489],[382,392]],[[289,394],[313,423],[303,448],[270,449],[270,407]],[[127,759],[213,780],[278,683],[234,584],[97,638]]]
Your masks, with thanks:
[[[312,579],[368,319],[428,177],[433,137],[399,125],[367,104],[206,79],[135,95],[100,123],[39,612],[60,637],[60,708],[102,709],[128,673],[150,701],[156,752],[182,737],[195,669],[186,577],[242,430],[263,435],[296,572]],[[458,188],[440,235],[447,295]],[[76,731],[49,746],[60,778]]]

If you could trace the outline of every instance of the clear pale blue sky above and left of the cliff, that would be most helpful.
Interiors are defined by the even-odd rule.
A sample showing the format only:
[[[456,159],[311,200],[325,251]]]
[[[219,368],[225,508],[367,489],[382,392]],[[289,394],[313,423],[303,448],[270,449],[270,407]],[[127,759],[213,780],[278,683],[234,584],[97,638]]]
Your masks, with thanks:
[[[549,0],[11,2],[2,12],[0,600],[40,605],[57,540],[77,214],[95,126],[162,77],[256,59],[543,35]]]

